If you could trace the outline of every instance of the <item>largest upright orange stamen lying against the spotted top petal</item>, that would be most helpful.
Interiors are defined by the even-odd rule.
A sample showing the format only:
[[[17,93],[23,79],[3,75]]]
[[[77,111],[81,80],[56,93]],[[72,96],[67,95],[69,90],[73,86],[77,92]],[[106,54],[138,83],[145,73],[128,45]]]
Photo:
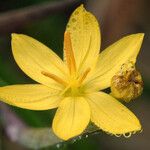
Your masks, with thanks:
[[[76,62],[75,62],[74,53],[72,49],[70,33],[67,31],[64,34],[64,53],[66,56],[66,61],[67,61],[70,74],[75,73]]]

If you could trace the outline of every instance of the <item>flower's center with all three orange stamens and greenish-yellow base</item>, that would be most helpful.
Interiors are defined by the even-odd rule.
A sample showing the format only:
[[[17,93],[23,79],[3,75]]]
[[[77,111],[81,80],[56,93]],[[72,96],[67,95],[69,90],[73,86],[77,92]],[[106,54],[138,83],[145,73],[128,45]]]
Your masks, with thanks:
[[[69,32],[65,32],[64,34],[64,54],[66,58],[66,64],[69,70],[69,75],[70,75],[69,79],[64,80],[58,77],[57,75],[45,71],[41,71],[41,74],[53,79],[60,85],[63,85],[65,89],[62,91],[62,95],[81,96],[85,91],[85,87],[83,86],[83,81],[85,80],[85,78],[87,77],[91,69],[87,68],[80,75],[77,73],[76,61],[75,61],[72,42],[71,42],[71,35]]]

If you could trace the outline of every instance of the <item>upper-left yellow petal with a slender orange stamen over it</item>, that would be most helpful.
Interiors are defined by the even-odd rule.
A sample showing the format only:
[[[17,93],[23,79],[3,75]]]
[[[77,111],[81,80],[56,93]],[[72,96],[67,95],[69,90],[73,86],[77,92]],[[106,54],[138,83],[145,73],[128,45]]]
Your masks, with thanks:
[[[65,79],[66,67],[52,50],[22,34],[12,34],[12,50],[17,64],[29,77],[49,87],[59,88],[57,82],[41,73],[44,71]]]

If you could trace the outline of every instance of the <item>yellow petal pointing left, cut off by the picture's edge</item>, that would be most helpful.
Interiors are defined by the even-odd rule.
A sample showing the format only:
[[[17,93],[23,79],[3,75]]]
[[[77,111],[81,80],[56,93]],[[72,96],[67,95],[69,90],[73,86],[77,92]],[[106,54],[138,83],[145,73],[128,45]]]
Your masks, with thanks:
[[[58,106],[59,91],[41,84],[24,84],[0,87],[0,99],[13,106],[47,110]]]

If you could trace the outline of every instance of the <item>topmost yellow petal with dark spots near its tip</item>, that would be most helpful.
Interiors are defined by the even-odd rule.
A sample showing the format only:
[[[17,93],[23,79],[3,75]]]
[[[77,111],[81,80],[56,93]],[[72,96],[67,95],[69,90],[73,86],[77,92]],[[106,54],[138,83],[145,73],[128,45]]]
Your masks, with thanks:
[[[77,69],[93,67],[100,50],[100,31],[96,18],[81,5],[71,15],[66,32],[71,35]]]

